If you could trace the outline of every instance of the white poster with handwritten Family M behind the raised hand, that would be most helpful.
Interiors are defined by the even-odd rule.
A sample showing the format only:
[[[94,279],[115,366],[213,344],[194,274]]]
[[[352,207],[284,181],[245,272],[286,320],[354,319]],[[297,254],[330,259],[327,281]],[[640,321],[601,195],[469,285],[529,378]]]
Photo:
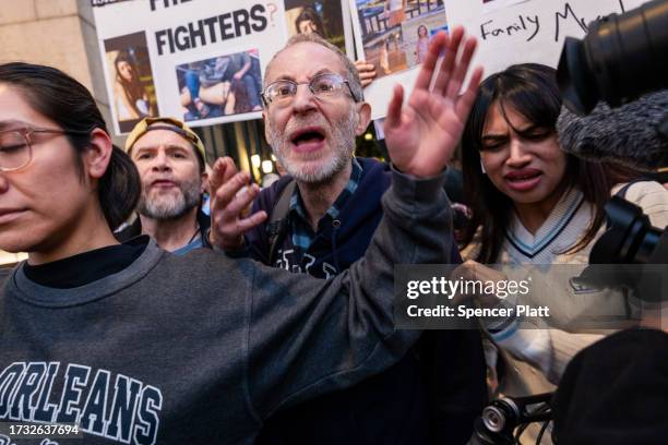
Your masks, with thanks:
[[[390,3],[387,0],[383,3]],[[401,3],[402,1],[398,0]],[[514,63],[535,62],[557,67],[566,36],[582,38],[588,24],[612,12],[621,13],[637,8],[646,0],[443,0],[440,21],[443,27],[463,25],[467,34],[478,38],[478,50],[473,64],[485,68],[485,76]],[[438,4],[437,0],[404,2]],[[349,0],[358,57],[366,56],[369,43],[382,39],[389,31],[389,13],[378,10],[379,2]],[[377,8],[374,10],[373,8]],[[379,23],[375,23],[377,17]],[[410,17],[401,24],[404,31]],[[437,28],[437,27],[434,27]],[[405,33],[402,33],[405,34]],[[380,63],[377,63],[380,64]],[[381,76],[365,89],[371,104],[372,118],[385,116],[395,83],[409,93],[419,65]],[[377,67],[377,72],[379,67]],[[381,69],[382,71],[382,69]],[[408,94],[406,95],[406,97]]]

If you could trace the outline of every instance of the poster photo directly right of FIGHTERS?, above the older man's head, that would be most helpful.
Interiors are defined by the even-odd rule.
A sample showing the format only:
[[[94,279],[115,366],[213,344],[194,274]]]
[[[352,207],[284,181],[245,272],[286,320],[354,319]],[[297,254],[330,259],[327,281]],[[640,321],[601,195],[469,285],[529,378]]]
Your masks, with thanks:
[[[285,0],[288,36],[315,33],[346,51],[341,2],[333,0]]]

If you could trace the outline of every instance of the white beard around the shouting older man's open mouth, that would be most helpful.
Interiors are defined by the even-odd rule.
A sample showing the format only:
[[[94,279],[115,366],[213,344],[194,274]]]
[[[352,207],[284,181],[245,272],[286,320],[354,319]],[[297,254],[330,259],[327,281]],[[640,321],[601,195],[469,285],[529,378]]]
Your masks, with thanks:
[[[286,135],[290,134],[294,128],[318,125],[321,128],[330,127],[325,119],[320,113],[310,113],[307,117],[294,117],[285,128],[285,131],[279,132],[274,122],[269,124],[270,145],[276,156],[276,159],[289,176],[295,180],[305,183],[322,183],[334,178],[336,173],[344,169],[347,163],[350,161],[355,152],[355,123],[357,120],[357,111],[350,108],[350,112],[339,119],[330,128],[330,142],[332,143],[332,154],[330,158],[324,160],[318,169],[300,168],[298,163],[293,163],[288,159],[291,142]],[[306,155],[308,156],[308,155]],[[317,155],[319,156],[319,154]],[[308,159],[308,157],[307,157]]]

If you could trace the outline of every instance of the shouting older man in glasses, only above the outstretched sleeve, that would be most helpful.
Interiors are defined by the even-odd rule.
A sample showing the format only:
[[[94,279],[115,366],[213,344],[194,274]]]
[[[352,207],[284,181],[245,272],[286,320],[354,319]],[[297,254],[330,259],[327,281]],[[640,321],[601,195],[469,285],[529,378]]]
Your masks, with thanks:
[[[275,267],[336,275],[367,249],[390,185],[386,165],[354,157],[371,115],[355,64],[317,35],[295,36],[270,61],[262,97],[266,140],[288,176],[262,191],[248,219],[230,208],[212,234],[226,251],[246,245]],[[226,180],[236,173],[229,158],[215,168]],[[270,214],[274,220],[262,224]]]

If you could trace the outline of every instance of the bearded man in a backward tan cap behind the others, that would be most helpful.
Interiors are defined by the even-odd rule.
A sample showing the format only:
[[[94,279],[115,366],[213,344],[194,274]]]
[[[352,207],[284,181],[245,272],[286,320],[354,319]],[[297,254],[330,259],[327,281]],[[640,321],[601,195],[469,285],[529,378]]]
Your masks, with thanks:
[[[211,248],[210,218],[201,209],[206,153],[196,133],[178,119],[145,118],[128,135],[126,152],[139,170],[142,194],[138,218],[117,239],[148,234],[176,254]]]

